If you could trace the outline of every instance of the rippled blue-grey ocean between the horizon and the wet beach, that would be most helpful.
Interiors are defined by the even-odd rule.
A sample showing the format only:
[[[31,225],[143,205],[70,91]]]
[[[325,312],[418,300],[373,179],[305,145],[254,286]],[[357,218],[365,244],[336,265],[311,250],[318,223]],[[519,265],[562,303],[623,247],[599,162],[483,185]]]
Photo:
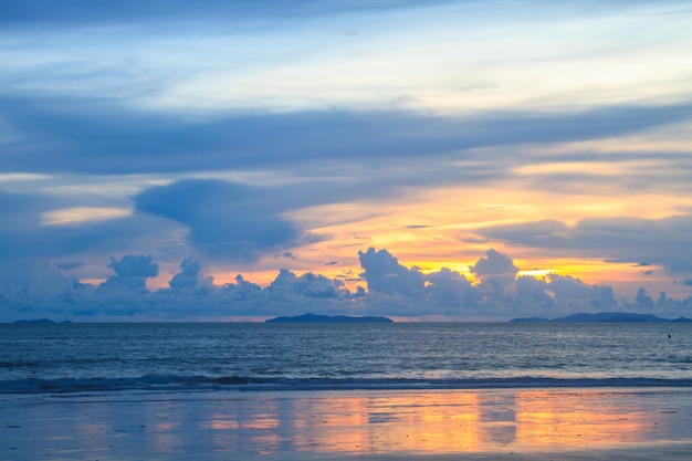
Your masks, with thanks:
[[[0,392],[692,386],[690,324],[0,324]]]

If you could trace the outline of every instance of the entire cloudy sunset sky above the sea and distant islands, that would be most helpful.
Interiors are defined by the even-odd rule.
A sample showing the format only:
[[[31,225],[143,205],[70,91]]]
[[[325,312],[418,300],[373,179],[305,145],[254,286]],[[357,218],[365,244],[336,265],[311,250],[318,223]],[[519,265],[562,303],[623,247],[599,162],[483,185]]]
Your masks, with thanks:
[[[0,4],[0,322],[692,317],[688,1]]]

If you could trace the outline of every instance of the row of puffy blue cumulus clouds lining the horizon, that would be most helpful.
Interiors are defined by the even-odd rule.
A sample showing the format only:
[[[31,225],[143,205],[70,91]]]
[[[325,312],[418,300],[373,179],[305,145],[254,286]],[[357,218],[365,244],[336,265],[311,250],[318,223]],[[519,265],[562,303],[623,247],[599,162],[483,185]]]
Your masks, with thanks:
[[[516,316],[557,317],[575,312],[637,311],[677,317],[692,308],[685,300],[658,300],[639,290],[632,300],[616,298],[612,287],[589,285],[568,275],[543,279],[516,276],[516,265],[507,255],[489,250],[473,265],[471,283],[459,272],[441,269],[423,274],[399,263],[387,250],[359,252],[363,276],[368,285],[349,291],[339,279],[306,272],[297,275],[281,270],[262,287],[239,274],[235,283],[217,286],[200,284],[200,264],[186,259],[169,289],[146,290],[146,280],[158,274],[151,256],[125,255],[111,260],[115,272],[97,287],[73,281],[66,289],[35,295],[32,287],[2,289],[0,315],[83,316],[118,318],[137,316],[151,319],[219,318],[232,316],[271,317],[306,312],[331,315],[396,315],[419,318],[507,319]],[[54,268],[53,268],[54,270]],[[481,275],[482,274],[482,275]],[[502,290],[493,277],[505,280]]]

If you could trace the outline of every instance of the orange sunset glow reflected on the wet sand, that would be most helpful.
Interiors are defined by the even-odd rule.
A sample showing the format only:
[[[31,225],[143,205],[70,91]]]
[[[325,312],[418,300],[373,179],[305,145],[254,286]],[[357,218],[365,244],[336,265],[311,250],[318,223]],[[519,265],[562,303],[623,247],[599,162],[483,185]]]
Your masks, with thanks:
[[[667,431],[667,425],[686,427],[679,436],[692,438],[690,407],[685,415],[650,408],[641,392],[536,389],[368,397],[327,392],[264,404],[261,411],[210,415],[208,427],[220,431],[219,441],[226,438],[227,443],[242,432],[248,444],[275,450],[291,444],[293,450],[349,453],[579,449],[660,440],[674,432]]]

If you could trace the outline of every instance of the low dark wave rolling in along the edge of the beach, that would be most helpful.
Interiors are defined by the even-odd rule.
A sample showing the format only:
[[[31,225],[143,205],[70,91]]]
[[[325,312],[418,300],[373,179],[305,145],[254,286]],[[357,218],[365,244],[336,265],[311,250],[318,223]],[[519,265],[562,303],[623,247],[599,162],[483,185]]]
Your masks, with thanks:
[[[692,387],[692,379],[621,378],[462,378],[462,379],[334,379],[244,376],[144,375],[124,378],[27,378],[0,381],[0,394],[75,394],[107,391],[287,391],[287,390],[416,390],[502,388]]]

